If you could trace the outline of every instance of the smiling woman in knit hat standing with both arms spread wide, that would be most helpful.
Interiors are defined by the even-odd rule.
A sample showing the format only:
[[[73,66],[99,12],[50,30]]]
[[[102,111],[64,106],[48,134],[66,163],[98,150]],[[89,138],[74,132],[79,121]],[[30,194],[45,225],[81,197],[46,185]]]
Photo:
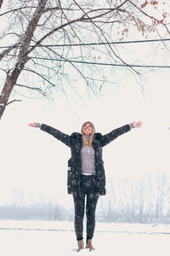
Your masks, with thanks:
[[[111,143],[116,137],[130,131],[132,128],[140,127],[142,123],[133,122],[130,125],[123,125],[106,135],[95,133],[92,122],[82,125],[81,133],[73,132],[71,136],[54,129],[51,126],[33,123],[31,127],[38,127],[53,135],[66,146],[71,148],[71,159],[68,160],[68,193],[73,195],[75,207],[75,231],[78,241],[77,251],[84,248],[83,245],[83,217],[87,216],[87,237],[86,248],[94,250],[92,238],[95,228],[95,209],[99,195],[105,195],[105,169],[102,159],[102,148]]]

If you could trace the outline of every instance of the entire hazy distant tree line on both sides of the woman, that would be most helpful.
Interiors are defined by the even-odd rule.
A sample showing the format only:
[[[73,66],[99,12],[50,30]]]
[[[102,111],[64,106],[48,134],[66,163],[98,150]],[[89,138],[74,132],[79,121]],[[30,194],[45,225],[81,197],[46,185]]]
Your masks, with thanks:
[[[170,223],[170,179],[157,173],[140,179],[108,183],[108,194],[99,198],[96,219],[115,223]],[[26,204],[25,194],[14,191],[14,201],[0,206],[1,219],[41,219],[73,221],[74,209],[59,200],[43,199]]]

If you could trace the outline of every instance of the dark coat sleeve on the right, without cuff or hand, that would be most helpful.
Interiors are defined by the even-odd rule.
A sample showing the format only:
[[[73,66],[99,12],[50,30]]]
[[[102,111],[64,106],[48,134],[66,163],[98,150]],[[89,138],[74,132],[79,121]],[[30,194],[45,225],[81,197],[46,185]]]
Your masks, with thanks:
[[[117,129],[111,131],[110,133],[103,135],[101,137],[102,147],[104,147],[108,143],[111,143],[114,139],[116,139],[116,137],[119,137],[123,133],[130,131],[130,130],[131,130],[130,125],[123,125],[122,127],[117,128]]]

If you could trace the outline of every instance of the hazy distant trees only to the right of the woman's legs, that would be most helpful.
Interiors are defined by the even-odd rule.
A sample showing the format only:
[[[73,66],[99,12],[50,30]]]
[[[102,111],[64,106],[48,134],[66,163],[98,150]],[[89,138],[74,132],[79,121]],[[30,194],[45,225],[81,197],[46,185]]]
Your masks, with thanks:
[[[170,223],[170,178],[165,173],[111,181],[98,218],[106,222]]]

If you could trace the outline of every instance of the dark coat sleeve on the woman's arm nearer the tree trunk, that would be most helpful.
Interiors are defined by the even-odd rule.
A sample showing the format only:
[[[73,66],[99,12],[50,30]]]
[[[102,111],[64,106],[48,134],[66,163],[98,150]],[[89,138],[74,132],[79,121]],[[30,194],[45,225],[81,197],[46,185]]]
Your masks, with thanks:
[[[56,139],[58,139],[61,143],[65,143],[66,146],[71,147],[71,137],[57,129],[49,125],[42,124],[41,126],[42,131],[46,131],[49,134],[53,135]]]

